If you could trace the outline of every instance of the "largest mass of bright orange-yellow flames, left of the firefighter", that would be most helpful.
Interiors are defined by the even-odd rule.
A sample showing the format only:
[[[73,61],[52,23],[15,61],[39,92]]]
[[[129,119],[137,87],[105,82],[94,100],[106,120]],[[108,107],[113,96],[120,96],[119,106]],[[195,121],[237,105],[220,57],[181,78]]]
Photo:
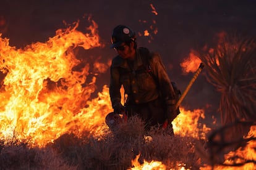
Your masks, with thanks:
[[[24,49],[15,49],[9,39],[0,37],[0,68],[6,75],[0,91],[1,139],[15,136],[42,146],[66,132],[100,131],[101,115],[110,111],[108,88],[103,87],[97,99],[88,100],[96,78],[83,87],[89,65],[80,71],[73,69],[80,63],[75,47],[100,46],[97,25],[92,21],[89,33],[77,31],[78,25],[60,29],[47,42]]]

